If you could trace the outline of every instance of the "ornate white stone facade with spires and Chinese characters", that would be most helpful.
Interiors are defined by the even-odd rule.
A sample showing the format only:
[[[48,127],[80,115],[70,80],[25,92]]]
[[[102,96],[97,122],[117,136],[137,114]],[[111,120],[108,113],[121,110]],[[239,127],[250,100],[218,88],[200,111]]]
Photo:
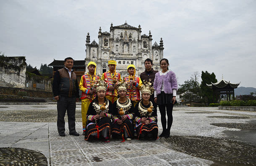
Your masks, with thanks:
[[[160,60],[163,58],[163,41],[159,45],[152,45],[152,35],[141,35],[141,26],[138,28],[128,25],[126,22],[120,26],[111,23],[110,33],[101,31],[99,27],[99,44],[94,40],[90,44],[89,33],[86,36],[85,65],[90,61],[97,63],[97,75],[108,70],[108,60],[117,61],[116,70],[121,76],[127,76],[127,66],[135,65],[136,74],[144,72],[144,60],[150,58],[153,61],[154,70],[160,69]]]

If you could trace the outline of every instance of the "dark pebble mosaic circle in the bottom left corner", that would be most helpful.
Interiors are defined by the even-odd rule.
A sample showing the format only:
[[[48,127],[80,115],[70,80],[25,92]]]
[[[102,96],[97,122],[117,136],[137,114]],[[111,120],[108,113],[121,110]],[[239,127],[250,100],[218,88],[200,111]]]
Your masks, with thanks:
[[[47,158],[39,152],[24,148],[0,148],[0,165],[47,166]]]

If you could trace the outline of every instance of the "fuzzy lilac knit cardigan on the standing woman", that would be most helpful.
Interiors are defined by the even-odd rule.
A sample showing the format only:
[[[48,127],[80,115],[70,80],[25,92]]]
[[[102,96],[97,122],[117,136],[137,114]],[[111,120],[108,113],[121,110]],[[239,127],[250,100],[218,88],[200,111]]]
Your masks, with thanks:
[[[169,71],[166,75],[160,75],[160,72],[156,74],[154,80],[154,90],[157,91],[157,95],[161,93],[162,82],[164,83],[165,93],[172,94],[172,89],[176,89],[178,91],[178,83],[176,80],[176,75],[173,71]]]

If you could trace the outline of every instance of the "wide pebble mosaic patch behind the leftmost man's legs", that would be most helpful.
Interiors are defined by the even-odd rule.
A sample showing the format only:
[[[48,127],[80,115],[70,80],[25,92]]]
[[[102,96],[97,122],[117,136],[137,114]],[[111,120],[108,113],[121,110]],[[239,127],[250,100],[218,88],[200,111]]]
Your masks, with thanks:
[[[1,111],[0,121],[4,122],[57,122],[57,109],[31,109]],[[68,122],[67,112],[65,122]],[[82,122],[81,112],[76,111],[76,122]]]

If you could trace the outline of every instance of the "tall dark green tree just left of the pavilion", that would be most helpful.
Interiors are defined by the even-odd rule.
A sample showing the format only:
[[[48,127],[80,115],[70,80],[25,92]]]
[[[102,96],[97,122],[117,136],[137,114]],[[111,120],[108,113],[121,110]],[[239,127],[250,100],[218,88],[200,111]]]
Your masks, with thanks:
[[[211,83],[217,83],[217,79],[214,73],[208,73],[207,71],[202,71],[202,75],[201,75],[201,95],[202,95],[202,99],[204,100],[205,104],[210,104],[210,103],[214,103],[215,101],[213,101],[213,91],[212,89],[210,89],[206,84],[211,84]]]

